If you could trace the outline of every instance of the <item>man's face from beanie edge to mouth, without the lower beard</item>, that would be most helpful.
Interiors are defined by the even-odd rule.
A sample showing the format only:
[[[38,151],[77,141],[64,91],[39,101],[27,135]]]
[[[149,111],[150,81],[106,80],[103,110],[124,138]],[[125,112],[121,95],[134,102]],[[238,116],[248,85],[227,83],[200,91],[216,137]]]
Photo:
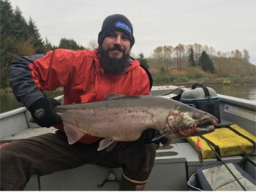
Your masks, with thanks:
[[[110,32],[102,41],[102,48],[108,51],[110,58],[122,58],[129,53],[130,46],[129,37],[120,31]]]

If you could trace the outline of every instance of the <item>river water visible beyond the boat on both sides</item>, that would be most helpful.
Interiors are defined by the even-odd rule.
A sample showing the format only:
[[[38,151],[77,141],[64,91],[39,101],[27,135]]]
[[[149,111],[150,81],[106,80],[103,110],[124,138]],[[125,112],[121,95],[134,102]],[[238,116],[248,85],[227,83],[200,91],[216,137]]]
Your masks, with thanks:
[[[235,96],[242,99],[249,99],[256,101],[256,87],[255,85],[209,85],[217,93],[227,96]],[[61,91],[53,91],[46,93],[48,96],[54,97],[61,95]],[[22,105],[16,101],[12,93],[1,93],[0,95],[0,112],[7,112]]]

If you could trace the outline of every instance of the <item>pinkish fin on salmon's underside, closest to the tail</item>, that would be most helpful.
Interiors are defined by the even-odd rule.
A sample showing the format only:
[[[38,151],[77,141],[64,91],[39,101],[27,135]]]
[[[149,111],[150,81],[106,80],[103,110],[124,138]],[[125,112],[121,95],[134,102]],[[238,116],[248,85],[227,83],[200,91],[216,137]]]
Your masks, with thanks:
[[[69,145],[74,144],[75,142],[78,142],[84,134],[78,131],[78,128],[73,126],[70,123],[63,122],[64,131],[67,135],[67,141],[69,142]]]

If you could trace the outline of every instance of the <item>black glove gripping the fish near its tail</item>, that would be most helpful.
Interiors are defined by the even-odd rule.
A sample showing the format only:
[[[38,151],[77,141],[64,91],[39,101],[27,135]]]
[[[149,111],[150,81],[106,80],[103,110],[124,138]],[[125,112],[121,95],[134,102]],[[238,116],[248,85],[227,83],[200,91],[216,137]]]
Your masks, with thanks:
[[[54,107],[61,105],[59,101],[53,98],[42,97],[29,107],[35,123],[41,127],[56,126],[62,122],[61,118],[56,114]]]

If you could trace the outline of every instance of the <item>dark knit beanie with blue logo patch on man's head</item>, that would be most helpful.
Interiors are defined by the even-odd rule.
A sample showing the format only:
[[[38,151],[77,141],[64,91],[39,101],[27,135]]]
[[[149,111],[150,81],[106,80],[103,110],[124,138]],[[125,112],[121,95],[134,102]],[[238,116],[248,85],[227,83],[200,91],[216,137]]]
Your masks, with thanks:
[[[124,34],[127,34],[131,42],[131,48],[135,44],[135,38],[133,37],[132,23],[124,15],[115,14],[105,18],[105,20],[102,23],[102,29],[99,32],[99,36],[98,36],[99,45],[102,43],[103,39],[111,31],[121,31]]]

